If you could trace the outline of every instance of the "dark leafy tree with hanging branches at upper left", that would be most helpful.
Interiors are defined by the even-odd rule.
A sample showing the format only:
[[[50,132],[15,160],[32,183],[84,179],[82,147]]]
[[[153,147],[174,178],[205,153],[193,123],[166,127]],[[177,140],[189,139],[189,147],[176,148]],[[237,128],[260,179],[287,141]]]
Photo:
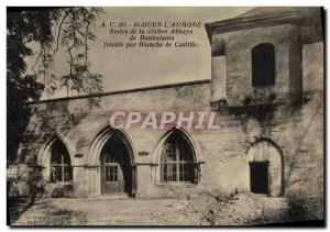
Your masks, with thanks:
[[[57,8],[10,12],[7,14],[7,141],[8,162],[16,158],[18,145],[29,121],[28,101],[43,92],[53,95],[66,88],[77,95],[90,95],[89,106],[98,107],[97,93],[103,91],[102,77],[90,71],[89,43],[95,40],[91,25],[101,8]],[[33,51],[31,43],[40,49]],[[69,56],[68,70],[56,76],[52,68],[58,49]],[[37,54],[34,74],[26,74],[25,58]]]

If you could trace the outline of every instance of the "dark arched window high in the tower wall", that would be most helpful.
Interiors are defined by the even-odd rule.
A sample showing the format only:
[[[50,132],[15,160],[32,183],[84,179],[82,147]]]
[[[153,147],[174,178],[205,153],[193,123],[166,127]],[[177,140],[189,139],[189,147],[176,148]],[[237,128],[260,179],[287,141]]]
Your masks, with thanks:
[[[275,47],[258,44],[252,49],[252,86],[264,87],[275,84]]]

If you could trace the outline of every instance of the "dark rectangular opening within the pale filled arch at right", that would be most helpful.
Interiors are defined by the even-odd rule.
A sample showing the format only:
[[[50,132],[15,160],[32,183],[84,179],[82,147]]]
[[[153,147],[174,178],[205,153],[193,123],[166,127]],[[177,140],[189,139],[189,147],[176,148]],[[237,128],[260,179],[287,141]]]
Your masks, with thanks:
[[[270,195],[268,162],[250,163],[250,185],[252,192]]]

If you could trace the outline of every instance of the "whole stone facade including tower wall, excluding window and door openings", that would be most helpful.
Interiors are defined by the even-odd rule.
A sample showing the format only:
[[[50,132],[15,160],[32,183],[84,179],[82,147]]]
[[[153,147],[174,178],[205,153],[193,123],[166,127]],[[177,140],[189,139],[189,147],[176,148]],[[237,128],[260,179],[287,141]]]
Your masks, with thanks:
[[[157,198],[200,191],[249,191],[248,153],[258,141],[273,144],[283,162],[280,173],[276,174],[282,175],[282,189],[272,191],[274,196],[300,191],[322,196],[322,42],[311,40],[304,44],[299,26],[290,23],[226,32],[211,35],[211,40],[212,82],[202,80],[105,93],[101,107],[92,110],[87,98],[79,97],[31,103],[31,119],[20,147],[20,161],[31,168],[37,166],[45,170],[50,165],[44,158],[50,141],[59,137],[74,165],[73,195],[98,197],[100,141],[111,134],[111,113],[211,112],[211,101],[226,98],[228,106],[217,108],[216,112],[216,124],[220,129],[197,130],[184,125],[180,130],[193,144],[195,162],[200,165],[196,184],[161,181],[160,151],[173,126],[154,130],[135,125],[121,131],[131,146],[135,164],[135,196]],[[271,43],[276,48],[276,85],[262,90],[253,88],[251,81],[251,49],[260,43]],[[274,101],[263,101],[272,93],[276,93]],[[246,97],[261,101],[245,106]],[[301,102],[293,104],[296,98]],[[50,191],[54,184],[50,184],[47,173],[41,172]]]

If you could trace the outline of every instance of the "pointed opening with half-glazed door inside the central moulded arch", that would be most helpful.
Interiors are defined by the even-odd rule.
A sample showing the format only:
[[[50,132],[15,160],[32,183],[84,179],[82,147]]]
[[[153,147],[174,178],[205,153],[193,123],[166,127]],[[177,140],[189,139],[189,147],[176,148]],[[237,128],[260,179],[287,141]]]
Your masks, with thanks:
[[[129,150],[118,136],[111,136],[100,154],[101,194],[132,196],[132,166]]]

